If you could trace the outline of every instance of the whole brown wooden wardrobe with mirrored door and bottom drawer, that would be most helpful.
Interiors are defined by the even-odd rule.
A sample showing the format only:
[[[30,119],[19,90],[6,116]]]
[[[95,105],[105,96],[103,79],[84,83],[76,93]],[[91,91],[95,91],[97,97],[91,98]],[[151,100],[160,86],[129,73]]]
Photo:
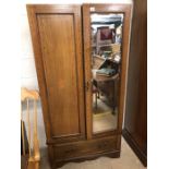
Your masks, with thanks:
[[[120,157],[131,4],[27,4],[52,168]]]

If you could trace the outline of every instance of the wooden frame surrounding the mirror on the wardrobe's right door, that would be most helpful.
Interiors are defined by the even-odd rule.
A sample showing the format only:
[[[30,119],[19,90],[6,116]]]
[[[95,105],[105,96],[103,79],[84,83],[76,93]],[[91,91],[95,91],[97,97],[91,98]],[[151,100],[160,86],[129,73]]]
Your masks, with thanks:
[[[86,90],[86,131],[87,138],[101,137],[122,133],[123,112],[125,104],[126,93],[126,75],[128,75],[128,62],[129,62],[129,40],[130,40],[130,23],[131,23],[131,7],[132,4],[96,4],[87,3],[83,4],[83,39],[84,39],[84,62],[85,62],[85,84],[87,84]],[[93,133],[93,114],[92,114],[92,70],[90,70],[90,13],[123,13],[123,31],[122,31],[122,63],[120,73],[120,97],[118,100],[118,126],[117,130],[105,131],[102,133]]]

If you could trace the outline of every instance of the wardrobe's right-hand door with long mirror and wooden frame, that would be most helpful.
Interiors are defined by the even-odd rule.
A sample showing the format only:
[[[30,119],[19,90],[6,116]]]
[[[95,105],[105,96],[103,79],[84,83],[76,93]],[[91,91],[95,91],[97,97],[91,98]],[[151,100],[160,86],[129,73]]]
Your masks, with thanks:
[[[87,138],[121,134],[130,4],[83,5]]]

